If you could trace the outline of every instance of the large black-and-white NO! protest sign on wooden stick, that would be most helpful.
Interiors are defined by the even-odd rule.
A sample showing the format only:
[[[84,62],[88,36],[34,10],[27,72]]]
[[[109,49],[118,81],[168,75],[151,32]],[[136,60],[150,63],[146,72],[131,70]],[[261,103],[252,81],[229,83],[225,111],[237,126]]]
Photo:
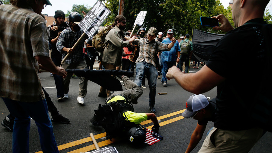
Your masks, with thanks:
[[[86,14],[86,16],[78,24],[79,27],[92,39],[95,32],[108,17],[111,11],[100,1],[97,0],[92,9]]]

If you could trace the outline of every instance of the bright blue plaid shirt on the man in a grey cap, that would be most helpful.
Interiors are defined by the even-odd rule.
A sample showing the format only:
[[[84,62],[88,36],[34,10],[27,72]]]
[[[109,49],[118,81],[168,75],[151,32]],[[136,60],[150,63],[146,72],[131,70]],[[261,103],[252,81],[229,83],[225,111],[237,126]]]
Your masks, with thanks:
[[[172,41],[169,38],[165,38],[162,43],[164,44],[170,44]],[[160,57],[162,60],[165,60],[167,62],[173,62],[176,61],[176,52],[180,51],[180,45],[179,42],[176,41],[174,46],[169,51],[161,52]]]

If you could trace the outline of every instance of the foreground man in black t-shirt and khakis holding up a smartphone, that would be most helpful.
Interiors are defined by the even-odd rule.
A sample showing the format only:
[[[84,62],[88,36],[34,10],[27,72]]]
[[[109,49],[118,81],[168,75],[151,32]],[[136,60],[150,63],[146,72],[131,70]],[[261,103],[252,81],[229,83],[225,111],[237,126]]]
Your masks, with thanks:
[[[271,49],[268,45],[272,28],[263,19],[268,2],[234,0],[232,19],[237,28],[233,28],[223,14],[214,17],[222,26],[213,29],[228,33],[218,41],[206,65],[198,72],[189,74],[180,72],[176,67],[168,70],[167,79],[174,78],[189,92],[201,94],[217,87],[215,124],[199,152],[249,152],[263,135],[264,129],[269,130],[269,126],[262,126],[258,120],[271,123],[272,89],[269,86],[272,81],[271,75],[267,74],[271,72],[271,67],[268,70],[259,67],[259,64],[271,64]],[[231,53],[258,64],[246,67],[243,71],[234,69],[229,72],[229,67],[235,67],[236,64]],[[258,73],[252,73],[254,69],[258,69]],[[256,108],[266,104],[262,112],[258,113]],[[267,114],[263,116],[265,112]]]

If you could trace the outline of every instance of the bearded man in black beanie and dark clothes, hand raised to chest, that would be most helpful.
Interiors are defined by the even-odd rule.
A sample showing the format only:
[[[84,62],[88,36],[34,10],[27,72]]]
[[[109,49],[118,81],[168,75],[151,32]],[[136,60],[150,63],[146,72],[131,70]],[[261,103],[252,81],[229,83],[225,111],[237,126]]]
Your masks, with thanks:
[[[49,27],[48,37],[49,37],[49,43],[52,44],[51,59],[56,66],[60,66],[62,54],[57,50],[56,44],[57,44],[61,31],[68,28],[69,23],[65,21],[65,14],[61,10],[55,11],[54,18],[56,23],[52,24]],[[57,74],[53,74],[53,77],[56,84],[58,102],[62,102],[63,96],[64,96],[62,77],[58,76]]]

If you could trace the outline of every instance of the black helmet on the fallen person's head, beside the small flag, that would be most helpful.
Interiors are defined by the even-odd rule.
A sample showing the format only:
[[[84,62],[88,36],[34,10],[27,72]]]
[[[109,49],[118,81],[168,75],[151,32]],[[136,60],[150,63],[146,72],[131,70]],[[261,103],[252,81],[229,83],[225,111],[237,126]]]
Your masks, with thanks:
[[[128,130],[127,135],[130,142],[142,143],[145,142],[146,139],[146,130],[134,126]]]

